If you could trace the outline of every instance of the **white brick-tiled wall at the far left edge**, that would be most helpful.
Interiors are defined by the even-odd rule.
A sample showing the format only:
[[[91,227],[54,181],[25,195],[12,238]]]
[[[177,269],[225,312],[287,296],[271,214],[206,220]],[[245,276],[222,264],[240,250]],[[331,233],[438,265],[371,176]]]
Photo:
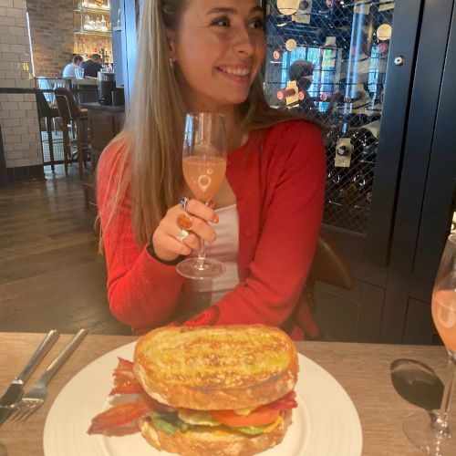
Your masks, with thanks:
[[[33,88],[25,0],[0,0],[0,88]],[[0,93],[7,168],[43,164],[36,98]]]

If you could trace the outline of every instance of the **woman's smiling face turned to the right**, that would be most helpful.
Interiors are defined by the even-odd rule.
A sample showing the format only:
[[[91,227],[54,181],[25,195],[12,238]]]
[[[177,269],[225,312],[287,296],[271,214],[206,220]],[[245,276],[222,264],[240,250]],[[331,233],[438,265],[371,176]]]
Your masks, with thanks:
[[[168,36],[189,109],[223,112],[245,101],[264,59],[258,0],[187,0]]]

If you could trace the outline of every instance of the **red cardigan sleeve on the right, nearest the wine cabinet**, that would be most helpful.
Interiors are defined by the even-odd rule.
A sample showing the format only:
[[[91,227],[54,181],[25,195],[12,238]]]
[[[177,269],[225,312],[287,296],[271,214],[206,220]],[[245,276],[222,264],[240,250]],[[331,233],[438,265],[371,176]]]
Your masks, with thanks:
[[[248,272],[212,306],[212,316],[195,316],[190,325],[192,321],[206,324],[212,318],[211,323],[217,325],[280,326],[295,309],[322,221],[325,151],[320,130],[309,122],[287,122],[276,126],[270,136],[261,152],[259,172],[246,179],[246,194],[255,185],[255,175],[260,187],[265,187],[259,236]],[[245,211],[240,204],[238,208],[245,228],[255,209],[252,204]],[[241,229],[240,236],[249,231]]]

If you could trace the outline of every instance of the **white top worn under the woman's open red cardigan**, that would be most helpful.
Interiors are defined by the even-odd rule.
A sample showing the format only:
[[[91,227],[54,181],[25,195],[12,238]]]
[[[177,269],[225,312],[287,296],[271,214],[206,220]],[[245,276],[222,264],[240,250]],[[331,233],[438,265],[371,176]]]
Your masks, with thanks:
[[[220,222],[212,224],[217,239],[206,243],[206,256],[221,261],[226,272],[211,280],[192,280],[192,292],[199,306],[206,307],[220,301],[223,295],[239,284],[237,258],[239,254],[239,218],[236,204],[217,209]]]

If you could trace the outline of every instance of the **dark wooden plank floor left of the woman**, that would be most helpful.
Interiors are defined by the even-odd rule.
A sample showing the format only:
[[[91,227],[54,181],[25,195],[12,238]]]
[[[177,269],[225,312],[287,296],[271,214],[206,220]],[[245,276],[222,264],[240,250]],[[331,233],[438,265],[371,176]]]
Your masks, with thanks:
[[[78,166],[0,189],[0,331],[130,334],[109,313]]]

